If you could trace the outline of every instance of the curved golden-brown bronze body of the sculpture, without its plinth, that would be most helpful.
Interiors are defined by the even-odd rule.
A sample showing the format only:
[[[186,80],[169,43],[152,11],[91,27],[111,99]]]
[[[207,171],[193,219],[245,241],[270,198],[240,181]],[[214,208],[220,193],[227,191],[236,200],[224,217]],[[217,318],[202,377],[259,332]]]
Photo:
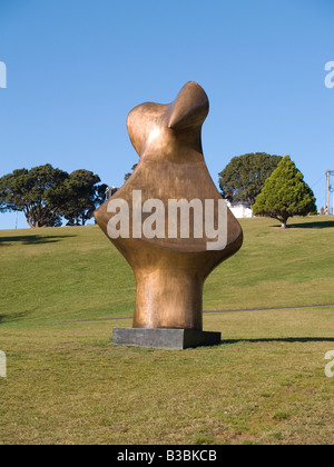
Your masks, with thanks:
[[[215,187],[202,149],[202,126],[208,113],[208,98],[196,82],[188,82],[170,105],[143,103],[128,116],[130,140],[140,156],[129,180],[111,197],[124,199],[132,216],[132,191],[141,190],[143,203],[159,199],[212,199],[222,196]],[[95,218],[108,236],[108,200]],[[148,213],[143,215],[143,221]],[[215,218],[217,208],[215,207]],[[207,276],[242,246],[243,231],[227,209],[227,244],[220,250],[207,250],[203,238],[194,238],[190,212],[189,238],[168,238],[166,209],[165,238],[111,239],[131,266],[137,281],[134,327],[203,329],[203,286]],[[224,295],[224,284],[222,284]]]

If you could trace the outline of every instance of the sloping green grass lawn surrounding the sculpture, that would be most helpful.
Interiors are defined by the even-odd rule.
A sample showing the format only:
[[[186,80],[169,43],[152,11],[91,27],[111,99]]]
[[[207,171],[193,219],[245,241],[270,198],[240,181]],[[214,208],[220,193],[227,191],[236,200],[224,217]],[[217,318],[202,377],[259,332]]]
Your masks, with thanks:
[[[257,310],[184,351],[111,344],[136,285],[98,227],[0,231],[0,444],[333,444],[334,217],[242,225],[204,308]]]

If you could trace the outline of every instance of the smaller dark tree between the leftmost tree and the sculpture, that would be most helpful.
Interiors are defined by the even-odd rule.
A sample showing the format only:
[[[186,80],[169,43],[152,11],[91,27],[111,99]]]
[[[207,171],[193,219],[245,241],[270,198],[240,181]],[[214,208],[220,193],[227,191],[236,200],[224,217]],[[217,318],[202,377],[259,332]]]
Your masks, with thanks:
[[[105,200],[107,185],[98,185],[100,178],[89,170],[76,170],[59,187],[62,196],[60,211],[70,226],[85,226],[92,212]]]

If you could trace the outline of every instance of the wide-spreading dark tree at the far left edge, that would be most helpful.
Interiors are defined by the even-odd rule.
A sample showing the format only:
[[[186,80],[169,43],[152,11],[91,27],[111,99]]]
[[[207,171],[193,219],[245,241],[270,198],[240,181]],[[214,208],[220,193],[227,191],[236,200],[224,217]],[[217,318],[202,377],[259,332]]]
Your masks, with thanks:
[[[57,188],[68,177],[49,163],[14,170],[0,179],[1,210],[23,211],[31,228],[61,223]]]

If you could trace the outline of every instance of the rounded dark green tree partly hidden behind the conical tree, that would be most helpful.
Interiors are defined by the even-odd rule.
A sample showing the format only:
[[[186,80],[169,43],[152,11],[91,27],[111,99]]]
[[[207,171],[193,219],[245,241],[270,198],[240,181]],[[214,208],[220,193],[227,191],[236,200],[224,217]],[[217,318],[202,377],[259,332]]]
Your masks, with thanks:
[[[222,195],[229,201],[247,201],[253,206],[266,179],[276,169],[282,156],[266,152],[234,157],[219,175]]]

